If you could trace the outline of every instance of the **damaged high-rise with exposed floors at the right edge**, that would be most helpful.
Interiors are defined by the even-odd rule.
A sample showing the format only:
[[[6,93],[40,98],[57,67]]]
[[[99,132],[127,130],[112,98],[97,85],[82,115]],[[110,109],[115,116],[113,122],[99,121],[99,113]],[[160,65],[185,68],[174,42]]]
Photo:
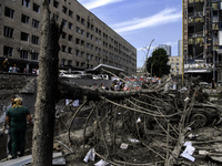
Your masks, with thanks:
[[[182,0],[184,73],[222,81],[222,0]]]

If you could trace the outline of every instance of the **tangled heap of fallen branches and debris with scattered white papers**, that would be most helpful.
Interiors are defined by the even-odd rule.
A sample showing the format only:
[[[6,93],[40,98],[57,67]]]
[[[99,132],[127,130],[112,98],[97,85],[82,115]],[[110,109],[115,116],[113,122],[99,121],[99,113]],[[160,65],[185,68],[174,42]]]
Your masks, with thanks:
[[[64,118],[61,122],[65,129],[54,142],[61,144],[68,165],[196,163],[195,149],[199,147],[194,146],[201,144],[196,142],[201,134],[192,132],[205,125],[219,125],[220,113],[215,105],[208,102],[208,95],[202,93],[198,79],[185,80],[183,85],[175,80],[180,91],[165,91],[170,82],[165,79],[161,85],[152,87],[157,90],[152,93],[118,101],[101,97],[91,101],[87,107],[84,102],[71,117],[60,116]],[[208,113],[215,113],[215,116],[205,120]],[[206,151],[206,154],[210,152]],[[208,164],[212,160],[208,159]]]

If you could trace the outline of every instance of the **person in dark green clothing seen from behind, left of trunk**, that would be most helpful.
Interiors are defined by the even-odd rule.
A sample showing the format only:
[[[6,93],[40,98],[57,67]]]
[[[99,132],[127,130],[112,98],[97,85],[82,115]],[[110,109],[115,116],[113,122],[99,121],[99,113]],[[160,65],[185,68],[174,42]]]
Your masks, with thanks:
[[[12,158],[17,158],[18,149],[20,151],[20,156],[24,155],[27,121],[30,125],[30,112],[26,106],[22,106],[22,98],[17,97],[13,106],[9,108],[6,115],[6,122],[11,129]]]

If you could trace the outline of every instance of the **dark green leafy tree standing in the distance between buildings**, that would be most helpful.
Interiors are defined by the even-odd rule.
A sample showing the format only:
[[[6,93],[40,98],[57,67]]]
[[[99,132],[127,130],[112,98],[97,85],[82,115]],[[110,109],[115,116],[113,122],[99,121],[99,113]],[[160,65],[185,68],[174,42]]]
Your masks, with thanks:
[[[170,65],[168,65],[169,55],[164,49],[158,49],[152,52],[152,56],[147,61],[147,70],[152,76],[161,77],[170,73]]]

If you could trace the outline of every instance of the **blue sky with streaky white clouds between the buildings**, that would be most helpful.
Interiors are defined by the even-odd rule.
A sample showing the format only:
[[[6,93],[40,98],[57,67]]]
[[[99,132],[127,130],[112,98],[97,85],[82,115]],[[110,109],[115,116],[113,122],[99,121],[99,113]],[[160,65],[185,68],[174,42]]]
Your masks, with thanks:
[[[153,46],[168,44],[178,55],[182,39],[182,0],[78,0],[100,20],[118,32],[138,53],[142,66],[150,42]]]

